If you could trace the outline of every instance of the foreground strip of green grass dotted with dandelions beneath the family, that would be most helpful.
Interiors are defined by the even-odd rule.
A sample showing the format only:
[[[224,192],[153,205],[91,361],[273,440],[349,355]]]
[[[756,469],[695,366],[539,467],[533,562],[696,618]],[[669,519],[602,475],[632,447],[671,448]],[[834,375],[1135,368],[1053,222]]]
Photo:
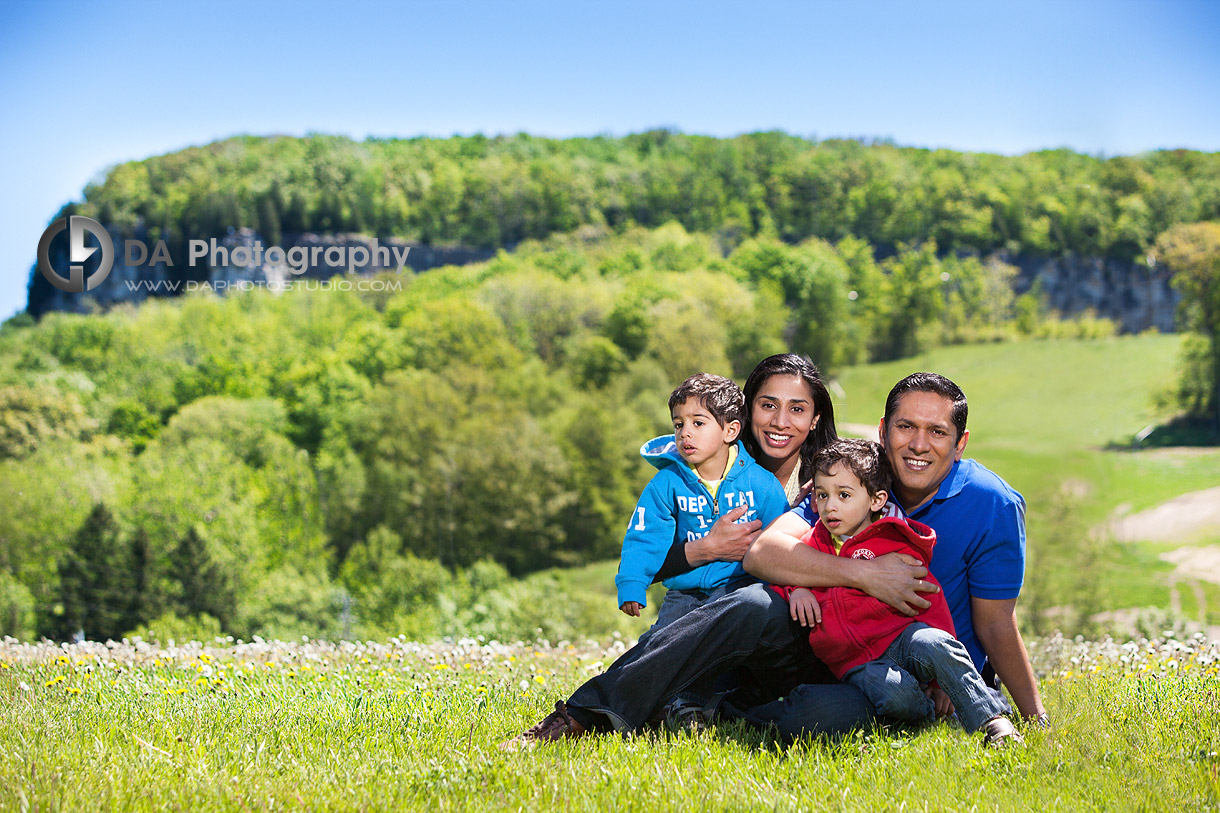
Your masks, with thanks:
[[[617,649],[2,645],[0,808],[1202,809],[1220,669],[1179,647],[1035,647],[1057,723],[1009,751],[948,725],[788,745],[730,723],[503,753]]]

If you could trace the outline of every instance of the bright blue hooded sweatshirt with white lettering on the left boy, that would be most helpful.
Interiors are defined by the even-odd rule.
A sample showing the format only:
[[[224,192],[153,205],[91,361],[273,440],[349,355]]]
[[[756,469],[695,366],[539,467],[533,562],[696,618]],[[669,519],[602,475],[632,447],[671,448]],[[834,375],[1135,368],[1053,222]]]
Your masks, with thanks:
[[[678,541],[691,542],[706,536],[722,513],[747,503],[750,510],[737,521],[758,519],[765,527],[788,510],[783,486],[754,461],[739,441],[737,459],[725,472],[715,499],[678,454],[672,435],[653,438],[639,453],[660,471],[639,496],[622,540],[622,558],[614,580],[620,607],[626,602],[647,605],[645,591],[665,563],[670,547]],[[710,591],[744,575],[741,562],[711,562],[662,584],[669,590]]]

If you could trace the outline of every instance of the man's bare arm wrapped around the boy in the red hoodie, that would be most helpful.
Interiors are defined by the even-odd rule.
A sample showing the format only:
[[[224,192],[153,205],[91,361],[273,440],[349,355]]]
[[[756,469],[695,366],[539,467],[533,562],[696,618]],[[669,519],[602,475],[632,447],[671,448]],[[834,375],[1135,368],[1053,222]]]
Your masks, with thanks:
[[[935,593],[937,587],[922,581],[927,568],[915,557],[905,553],[887,553],[876,559],[831,555],[800,541],[809,530],[809,522],[799,514],[784,514],[759,535],[742,564],[750,574],[773,585],[855,587],[906,615],[931,605],[919,593]]]

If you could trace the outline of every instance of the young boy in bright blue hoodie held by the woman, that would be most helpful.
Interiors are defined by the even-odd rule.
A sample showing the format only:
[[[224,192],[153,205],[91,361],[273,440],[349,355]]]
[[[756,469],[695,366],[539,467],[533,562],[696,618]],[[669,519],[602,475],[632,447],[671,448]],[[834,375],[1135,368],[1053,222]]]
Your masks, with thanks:
[[[699,372],[670,396],[673,435],[649,441],[640,454],[660,471],[639,496],[619,560],[619,609],[639,615],[645,591],[675,542],[708,535],[725,511],[745,504],[738,522],[764,527],[788,510],[783,487],[737,441],[745,398],[736,383]],[[662,584],[669,590],[653,630],[708,601],[755,581],[741,562],[711,562]]]

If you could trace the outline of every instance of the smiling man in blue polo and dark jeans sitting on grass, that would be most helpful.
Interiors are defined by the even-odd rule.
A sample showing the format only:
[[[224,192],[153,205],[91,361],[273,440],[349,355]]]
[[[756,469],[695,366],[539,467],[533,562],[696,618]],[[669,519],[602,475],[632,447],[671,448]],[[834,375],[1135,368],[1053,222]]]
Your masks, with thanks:
[[[943,376],[921,372],[894,386],[880,425],[894,470],[894,497],[913,519],[937,531],[931,566],[976,665],[983,669],[986,658],[1020,713],[1044,723],[1014,614],[1025,569],[1025,503],[994,474],[961,460],[969,439],[966,413],[965,394]],[[909,614],[928,605],[916,594],[936,590],[922,581],[927,563],[903,554],[874,560],[832,557],[800,542],[811,526],[806,499],[759,536],[745,554],[747,570],[783,585],[858,587]],[[775,724],[789,736],[867,723],[874,709],[859,690],[810,681],[817,664],[810,663],[803,637],[787,602],[762,585],[744,587],[645,637],[566,704],[556,703],[555,712],[504,745],[633,730],[678,692],[705,688],[717,674],[742,665],[772,681],[784,697],[745,710],[730,706],[730,714]]]

